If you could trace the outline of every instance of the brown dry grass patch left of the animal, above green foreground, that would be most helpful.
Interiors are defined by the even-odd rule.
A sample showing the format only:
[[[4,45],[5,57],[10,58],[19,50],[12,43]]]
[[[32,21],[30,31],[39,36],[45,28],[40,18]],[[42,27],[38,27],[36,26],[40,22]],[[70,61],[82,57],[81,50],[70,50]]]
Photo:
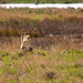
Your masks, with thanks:
[[[13,52],[20,50],[20,39],[17,37],[0,38],[0,51]]]

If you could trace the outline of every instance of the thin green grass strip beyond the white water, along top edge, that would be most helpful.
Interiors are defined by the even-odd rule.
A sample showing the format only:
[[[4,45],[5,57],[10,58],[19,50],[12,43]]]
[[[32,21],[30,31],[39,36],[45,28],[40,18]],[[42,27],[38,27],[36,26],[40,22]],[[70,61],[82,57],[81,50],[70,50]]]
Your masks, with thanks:
[[[0,3],[34,3],[37,0],[0,0]],[[40,3],[82,3],[83,0],[39,0]]]

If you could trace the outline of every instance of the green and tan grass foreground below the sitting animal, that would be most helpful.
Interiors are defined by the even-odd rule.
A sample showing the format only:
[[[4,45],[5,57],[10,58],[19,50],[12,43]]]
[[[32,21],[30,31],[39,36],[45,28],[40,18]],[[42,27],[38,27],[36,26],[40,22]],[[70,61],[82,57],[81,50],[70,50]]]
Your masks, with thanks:
[[[0,51],[0,83],[83,83],[83,50]]]

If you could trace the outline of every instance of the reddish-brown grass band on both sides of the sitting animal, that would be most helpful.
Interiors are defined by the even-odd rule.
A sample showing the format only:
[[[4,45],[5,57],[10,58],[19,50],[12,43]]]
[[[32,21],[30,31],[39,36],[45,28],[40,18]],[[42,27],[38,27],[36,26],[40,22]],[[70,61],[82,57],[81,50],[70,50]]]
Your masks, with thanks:
[[[0,51],[15,52],[21,50],[21,39],[19,37],[0,38]],[[83,39],[66,35],[31,38],[31,46],[33,50],[82,50]]]

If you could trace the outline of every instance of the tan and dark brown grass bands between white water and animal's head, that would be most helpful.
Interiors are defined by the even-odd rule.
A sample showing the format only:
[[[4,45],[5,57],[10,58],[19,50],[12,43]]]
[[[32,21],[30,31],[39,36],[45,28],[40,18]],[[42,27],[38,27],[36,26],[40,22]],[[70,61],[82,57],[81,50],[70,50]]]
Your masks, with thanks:
[[[0,35],[20,35],[27,31],[32,37],[48,34],[82,34],[82,9],[2,9],[0,8]]]

